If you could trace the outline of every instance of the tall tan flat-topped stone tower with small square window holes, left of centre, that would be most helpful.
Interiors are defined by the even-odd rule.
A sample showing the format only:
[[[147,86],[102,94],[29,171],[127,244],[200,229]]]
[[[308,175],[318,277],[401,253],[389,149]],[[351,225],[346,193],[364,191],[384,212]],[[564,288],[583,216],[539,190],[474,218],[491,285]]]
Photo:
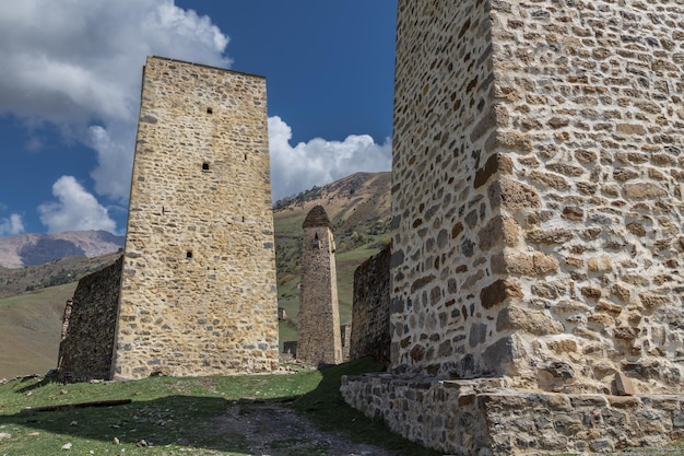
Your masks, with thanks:
[[[278,367],[266,80],[150,57],[113,376]]]

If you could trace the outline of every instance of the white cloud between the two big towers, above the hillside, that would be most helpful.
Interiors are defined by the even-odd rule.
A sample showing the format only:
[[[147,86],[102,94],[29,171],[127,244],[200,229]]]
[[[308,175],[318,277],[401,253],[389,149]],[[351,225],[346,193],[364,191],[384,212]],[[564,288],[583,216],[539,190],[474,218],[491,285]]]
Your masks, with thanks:
[[[344,141],[315,138],[292,147],[292,128],[280,117],[269,118],[273,200],[295,195],[314,185],[326,185],[358,171],[389,171],[392,147],[377,144],[368,135],[351,135]]]

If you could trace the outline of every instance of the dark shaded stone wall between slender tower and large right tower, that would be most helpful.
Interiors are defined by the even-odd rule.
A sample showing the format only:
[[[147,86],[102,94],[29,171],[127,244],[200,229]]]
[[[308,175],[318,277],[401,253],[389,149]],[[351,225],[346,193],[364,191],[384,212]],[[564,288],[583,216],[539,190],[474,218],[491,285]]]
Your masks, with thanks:
[[[364,356],[389,363],[390,246],[354,271],[354,304],[350,358]]]

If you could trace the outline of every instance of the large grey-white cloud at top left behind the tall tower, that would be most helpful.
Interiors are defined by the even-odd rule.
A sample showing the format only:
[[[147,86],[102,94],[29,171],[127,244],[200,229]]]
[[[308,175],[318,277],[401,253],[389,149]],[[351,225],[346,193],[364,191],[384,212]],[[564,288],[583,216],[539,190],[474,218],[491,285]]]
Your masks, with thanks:
[[[95,149],[95,191],[119,200],[129,194],[145,57],[231,65],[228,37],[173,0],[3,1],[0,43],[0,114],[51,122]]]

